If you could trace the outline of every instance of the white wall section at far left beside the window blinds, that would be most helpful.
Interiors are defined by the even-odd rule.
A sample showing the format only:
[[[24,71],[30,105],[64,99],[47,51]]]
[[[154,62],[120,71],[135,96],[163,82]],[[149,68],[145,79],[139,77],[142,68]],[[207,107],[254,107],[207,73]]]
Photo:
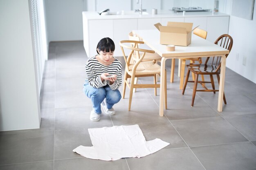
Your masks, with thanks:
[[[40,127],[28,0],[0,1],[0,131]]]

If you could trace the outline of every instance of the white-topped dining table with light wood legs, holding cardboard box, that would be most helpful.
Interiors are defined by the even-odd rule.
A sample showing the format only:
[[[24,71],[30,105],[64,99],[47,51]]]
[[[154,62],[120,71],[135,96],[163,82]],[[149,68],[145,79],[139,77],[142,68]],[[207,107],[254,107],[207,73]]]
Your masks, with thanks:
[[[220,85],[218,95],[218,111],[222,112],[223,92],[225,83],[225,69],[226,56],[229,50],[222,48],[209,42],[197,35],[192,34],[191,44],[188,46],[175,46],[175,51],[166,51],[166,45],[160,44],[160,32],[157,29],[150,30],[133,30],[142,41],[145,42],[151,49],[162,57],[161,60],[161,75],[160,75],[160,101],[159,101],[159,115],[164,116],[164,78],[165,78],[165,64],[167,59],[172,58],[192,58],[192,57],[213,57],[221,56],[220,68]],[[218,37],[216,37],[217,39]],[[182,78],[182,77],[181,77]]]

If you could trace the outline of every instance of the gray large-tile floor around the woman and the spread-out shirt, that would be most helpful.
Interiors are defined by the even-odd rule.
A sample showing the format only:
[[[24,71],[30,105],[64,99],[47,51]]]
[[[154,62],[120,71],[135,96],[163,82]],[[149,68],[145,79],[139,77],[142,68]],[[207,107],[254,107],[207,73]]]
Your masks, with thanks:
[[[218,93],[198,92],[191,107],[191,85],[182,96],[175,74],[167,86],[164,117],[158,115],[159,95],[138,89],[130,112],[126,93],[115,105],[116,115],[102,114],[92,122],[90,99],[82,91],[86,59],[81,41],[50,43],[41,127],[0,132],[0,170],[256,170],[256,84],[227,68],[227,105],[219,113]],[[152,80],[139,79],[147,81]],[[139,124],[147,141],[160,138],[170,145],[146,157],[117,161],[72,152],[79,145],[92,146],[88,128],[128,124]]]

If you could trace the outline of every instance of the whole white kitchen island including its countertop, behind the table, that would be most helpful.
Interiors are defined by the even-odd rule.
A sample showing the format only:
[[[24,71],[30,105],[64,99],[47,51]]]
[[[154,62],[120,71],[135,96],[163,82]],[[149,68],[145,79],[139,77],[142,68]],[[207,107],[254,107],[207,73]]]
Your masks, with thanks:
[[[116,13],[110,11],[110,13]],[[98,12],[83,12],[83,45],[88,57],[95,55],[96,46],[101,38],[109,37],[115,44],[115,56],[122,56],[119,47],[121,40],[127,40],[132,30],[156,29],[154,24],[167,22],[192,22],[193,28],[199,25],[207,31],[207,40],[214,42],[216,38],[228,33],[229,15],[212,12],[174,13],[169,10],[157,11],[158,14],[135,13],[134,11],[119,11],[119,15],[99,15]],[[122,14],[123,13],[123,14]],[[216,29],[218,28],[218,29]]]

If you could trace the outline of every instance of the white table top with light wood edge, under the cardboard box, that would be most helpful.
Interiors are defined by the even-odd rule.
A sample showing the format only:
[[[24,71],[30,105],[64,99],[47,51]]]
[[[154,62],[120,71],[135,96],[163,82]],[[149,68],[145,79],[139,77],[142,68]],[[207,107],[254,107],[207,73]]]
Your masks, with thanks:
[[[182,58],[206,55],[228,54],[229,51],[213,42],[209,42],[192,33],[191,44],[188,46],[175,46],[175,51],[166,51],[166,45],[160,44],[160,32],[152,30],[133,30],[151,49],[162,57]]]

